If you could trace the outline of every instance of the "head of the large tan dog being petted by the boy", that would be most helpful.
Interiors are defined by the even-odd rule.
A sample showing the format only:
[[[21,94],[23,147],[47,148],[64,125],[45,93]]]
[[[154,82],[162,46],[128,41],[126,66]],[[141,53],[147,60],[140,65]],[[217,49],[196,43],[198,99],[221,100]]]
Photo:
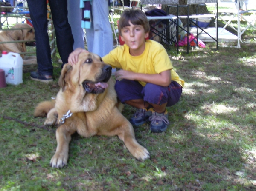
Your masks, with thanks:
[[[79,60],[73,66],[70,63],[64,65],[59,78],[62,91],[69,88],[83,88],[85,94],[101,94],[108,87],[111,77],[111,66],[105,64],[101,57],[89,52],[79,54]]]

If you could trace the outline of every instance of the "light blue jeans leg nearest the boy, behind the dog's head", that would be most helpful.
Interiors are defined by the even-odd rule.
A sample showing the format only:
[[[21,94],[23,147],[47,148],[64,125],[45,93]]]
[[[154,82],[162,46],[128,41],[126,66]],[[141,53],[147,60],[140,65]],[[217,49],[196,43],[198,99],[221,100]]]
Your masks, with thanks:
[[[108,19],[108,0],[92,1],[92,24],[86,29],[88,51],[105,56],[113,49],[113,34]]]

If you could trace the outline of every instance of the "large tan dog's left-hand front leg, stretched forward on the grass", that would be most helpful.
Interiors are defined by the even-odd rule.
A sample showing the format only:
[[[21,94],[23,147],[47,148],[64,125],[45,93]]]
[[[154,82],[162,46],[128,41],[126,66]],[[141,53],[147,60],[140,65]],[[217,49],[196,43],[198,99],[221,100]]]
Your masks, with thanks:
[[[66,125],[61,125],[56,131],[57,148],[53,155],[50,165],[53,168],[62,168],[67,165],[69,143],[71,140],[71,134],[75,132]]]

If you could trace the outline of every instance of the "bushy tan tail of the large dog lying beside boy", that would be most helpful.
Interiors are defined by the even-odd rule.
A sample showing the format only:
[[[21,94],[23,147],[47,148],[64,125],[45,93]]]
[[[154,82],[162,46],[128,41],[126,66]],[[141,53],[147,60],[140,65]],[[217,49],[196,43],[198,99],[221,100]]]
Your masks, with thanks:
[[[46,117],[47,113],[54,108],[55,100],[38,103],[34,111],[34,117]]]

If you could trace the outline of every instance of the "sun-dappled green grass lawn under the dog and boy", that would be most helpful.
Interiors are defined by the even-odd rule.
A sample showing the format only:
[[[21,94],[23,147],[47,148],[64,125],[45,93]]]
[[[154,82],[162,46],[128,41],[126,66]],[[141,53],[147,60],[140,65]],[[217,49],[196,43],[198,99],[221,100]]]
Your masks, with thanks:
[[[170,125],[152,134],[135,128],[151,154],[136,160],[118,137],[74,134],[68,165],[50,168],[56,127],[34,118],[35,106],[55,97],[60,65],[45,84],[30,80],[0,88],[0,191],[255,191],[256,31],[247,30],[241,48],[206,43],[206,48],[168,50],[186,84],[180,101],[168,108]],[[129,118],[134,108],[125,106]]]

